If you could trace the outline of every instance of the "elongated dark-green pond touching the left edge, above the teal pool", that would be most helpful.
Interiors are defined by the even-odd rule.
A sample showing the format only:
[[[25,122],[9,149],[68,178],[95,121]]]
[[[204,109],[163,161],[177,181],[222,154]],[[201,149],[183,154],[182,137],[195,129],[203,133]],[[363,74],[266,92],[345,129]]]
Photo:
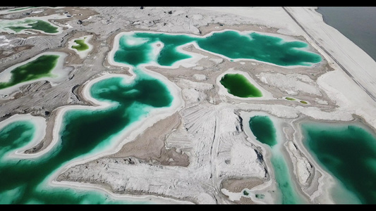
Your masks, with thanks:
[[[35,60],[11,70],[11,79],[0,82],[0,89],[6,89],[22,82],[29,82],[42,77],[56,77],[51,71],[58,62],[59,55],[42,55]]]

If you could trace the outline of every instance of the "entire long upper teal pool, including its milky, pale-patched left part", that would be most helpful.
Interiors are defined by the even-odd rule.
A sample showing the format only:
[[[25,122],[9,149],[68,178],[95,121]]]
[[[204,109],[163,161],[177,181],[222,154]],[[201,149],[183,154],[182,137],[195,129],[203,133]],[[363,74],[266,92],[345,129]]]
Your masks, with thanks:
[[[162,41],[164,46],[155,56],[150,52],[154,49],[153,44],[158,41]],[[284,41],[279,37],[256,32],[241,34],[231,30],[214,32],[208,37],[147,32],[124,34],[119,39],[119,50],[114,54],[114,60],[133,66],[151,61],[170,66],[179,60],[191,58],[188,53],[178,51],[178,47],[191,42],[195,42],[205,51],[230,59],[255,59],[282,66],[310,66],[322,61],[320,55],[306,50],[308,44],[303,41]]]

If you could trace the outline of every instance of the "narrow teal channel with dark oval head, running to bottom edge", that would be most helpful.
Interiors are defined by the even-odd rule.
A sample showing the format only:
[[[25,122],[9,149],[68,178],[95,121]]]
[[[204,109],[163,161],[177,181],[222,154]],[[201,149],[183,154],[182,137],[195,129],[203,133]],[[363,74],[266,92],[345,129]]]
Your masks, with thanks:
[[[250,117],[249,127],[257,141],[270,146],[272,152],[272,167],[274,177],[281,192],[281,204],[303,204],[305,200],[298,195],[295,184],[291,181],[289,166],[281,152],[280,140],[277,139],[277,130],[273,121],[267,115],[255,115]]]

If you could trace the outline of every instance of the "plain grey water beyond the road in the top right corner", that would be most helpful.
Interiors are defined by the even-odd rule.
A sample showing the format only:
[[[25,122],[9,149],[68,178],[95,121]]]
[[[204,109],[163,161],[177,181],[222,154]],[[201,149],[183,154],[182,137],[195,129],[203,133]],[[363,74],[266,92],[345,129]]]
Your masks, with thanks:
[[[376,6],[320,6],[316,11],[327,25],[376,60]]]

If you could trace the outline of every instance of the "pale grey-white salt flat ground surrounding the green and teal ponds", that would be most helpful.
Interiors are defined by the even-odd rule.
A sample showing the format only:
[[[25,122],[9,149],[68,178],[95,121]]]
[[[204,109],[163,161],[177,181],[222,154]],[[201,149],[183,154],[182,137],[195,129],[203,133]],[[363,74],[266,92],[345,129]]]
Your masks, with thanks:
[[[200,55],[173,68],[149,64],[143,71],[166,82],[173,106],[152,113],[116,138],[99,154],[71,160],[49,178],[51,186],[94,188],[116,198],[152,203],[253,204],[281,203],[270,162],[272,151],[251,135],[249,117],[269,115],[278,122],[282,154],[291,168],[296,191],[306,203],[334,203],[329,188],[336,184],[308,155],[298,136],[303,120],[356,122],[376,128],[376,67],[366,53],[326,25],[315,8],[281,7],[59,7],[32,8],[30,16],[68,14],[54,20],[59,34],[8,34],[1,45],[0,71],[42,52],[67,53],[69,73],[59,84],[25,84],[0,99],[0,120],[30,114],[46,121],[40,143],[27,154],[39,156],[59,143],[61,117],[73,108],[104,104],[90,97],[93,83],[114,75],[133,79],[128,65],[114,63],[121,32],[145,31],[205,36],[219,30],[275,34],[310,44],[324,58],[312,67],[281,67],[257,60],[234,60],[188,45],[181,50]],[[1,13],[18,19],[19,13]],[[65,26],[65,27],[63,27]],[[80,57],[69,48],[73,39],[90,36],[90,53]],[[92,36],[92,37],[91,37]],[[329,53],[329,54],[328,54]],[[346,70],[344,70],[346,69]],[[219,78],[242,72],[265,97],[229,95]],[[0,72],[1,73],[1,72]],[[49,85],[50,84],[50,85]],[[307,101],[287,101],[286,96]],[[49,99],[46,101],[45,99]],[[48,111],[48,113],[45,113]],[[29,117],[29,116],[28,116]],[[39,119],[38,119],[39,120]],[[250,194],[245,195],[244,191]],[[264,196],[258,198],[257,196]]]

